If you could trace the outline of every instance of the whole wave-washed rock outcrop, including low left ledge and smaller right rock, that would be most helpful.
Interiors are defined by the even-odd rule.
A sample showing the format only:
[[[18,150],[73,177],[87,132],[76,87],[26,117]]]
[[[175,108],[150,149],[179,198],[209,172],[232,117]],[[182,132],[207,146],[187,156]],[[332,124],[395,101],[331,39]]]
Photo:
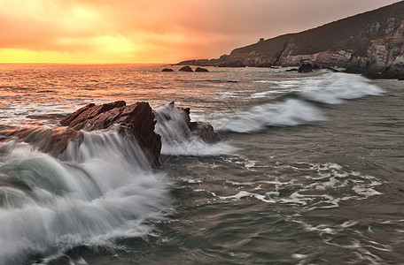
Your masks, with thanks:
[[[206,144],[220,140],[212,125],[190,121],[190,108],[175,107],[174,102],[168,103],[167,106],[176,108],[186,121],[190,132]],[[113,131],[127,140],[135,140],[151,165],[158,166],[162,147],[161,136],[155,133],[158,116],[159,114],[151,109],[148,102],[136,102],[131,105],[123,101],[102,105],[90,103],[62,119],[60,125],[63,127],[20,129],[5,133],[1,140],[24,141],[44,153],[58,157],[70,142],[82,141],[83,132]],[[172,118],[175,117],[164,117],[165,120]]]

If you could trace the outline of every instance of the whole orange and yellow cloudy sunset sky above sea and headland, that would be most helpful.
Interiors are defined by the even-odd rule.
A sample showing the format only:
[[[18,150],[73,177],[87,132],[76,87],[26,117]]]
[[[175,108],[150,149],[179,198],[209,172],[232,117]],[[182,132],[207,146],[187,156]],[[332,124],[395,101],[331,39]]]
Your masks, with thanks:
[[[176,63],[399,1],[0,0],[0,63]]]

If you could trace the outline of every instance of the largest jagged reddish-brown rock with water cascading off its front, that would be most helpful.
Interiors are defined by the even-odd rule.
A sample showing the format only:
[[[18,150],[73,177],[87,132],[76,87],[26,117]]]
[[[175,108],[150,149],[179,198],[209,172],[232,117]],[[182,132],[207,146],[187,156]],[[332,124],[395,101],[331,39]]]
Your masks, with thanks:
[[[111,102],[103,105],[89,104],[60,121],[72,130],[118,130],[124,137],[134,137],[151,164],[159,163],[161,138],[154,133],[154,113],[148,102]]]

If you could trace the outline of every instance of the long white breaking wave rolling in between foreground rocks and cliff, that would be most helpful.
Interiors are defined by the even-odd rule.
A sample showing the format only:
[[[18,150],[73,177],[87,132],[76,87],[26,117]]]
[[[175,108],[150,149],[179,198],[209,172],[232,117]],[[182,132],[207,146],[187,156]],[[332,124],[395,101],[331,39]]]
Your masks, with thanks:
[[[278,81],[290,87],[289,81]],[[384,91],[372,84],[369,79],[346,73],[328,72],[309,79],[293,81],[294,88],[270,102],[247,110],[236,110],[224,115],[214,115],[210,122],[219,131],[253,133],[268,126],[306,125],[325,119],[321,109],[313,104],[342,104],[346,100],[367,95],[382,95]],[[262,98],[276,94],[276,90],[255,93],[252,98]],[[201,118],[201,117],[198,117]]]

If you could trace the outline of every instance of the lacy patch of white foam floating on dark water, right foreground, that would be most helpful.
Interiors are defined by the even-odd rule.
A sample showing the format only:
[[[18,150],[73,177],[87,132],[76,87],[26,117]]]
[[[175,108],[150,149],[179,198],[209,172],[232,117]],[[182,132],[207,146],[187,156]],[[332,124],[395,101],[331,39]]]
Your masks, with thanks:
[[[299,179],[271,176],[268,180],[252,182],[228,180],[226,183],[237,186],[237,193],[228,196],[218,194],[217,197],[224,201],[238,201],[252,197],[263,202],[299,205],[302,209],[313,210],[338,208],[341,201],[360,201],[382,194],[376,190],[377,186],[382,185],[377,178],[345,171],[336,163],[299,163],[282,167],[291,170],[309,170],[312,174]],[[313,172],[316,172],[316,175]],[[293,193],[283,195],[284,190],[291,190]],[[353,224],[344,223],[344,225]]]

